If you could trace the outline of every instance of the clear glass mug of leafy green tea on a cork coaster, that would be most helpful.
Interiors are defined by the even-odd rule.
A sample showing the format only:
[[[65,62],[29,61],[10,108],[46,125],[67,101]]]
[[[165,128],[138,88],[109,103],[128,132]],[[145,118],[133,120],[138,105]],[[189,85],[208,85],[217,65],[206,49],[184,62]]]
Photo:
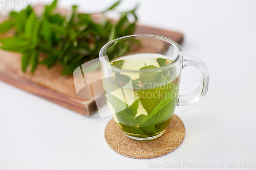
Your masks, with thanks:
[[[208,90],[209,72],[196,57],[182,56],[175,41],[157,35],[130,35],[106,43],[99,52],[105,98],[123,133],[135,140],[161,136],[176,106],[198,102]],[[181,70],[194,66],[203,79],[192,93],[179,95]]]

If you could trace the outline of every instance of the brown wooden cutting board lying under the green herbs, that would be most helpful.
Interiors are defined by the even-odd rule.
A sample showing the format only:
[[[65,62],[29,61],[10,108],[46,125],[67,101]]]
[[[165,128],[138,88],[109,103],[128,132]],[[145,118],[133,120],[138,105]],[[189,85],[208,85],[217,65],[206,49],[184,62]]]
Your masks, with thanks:
[[[34,9],[37,14],[44,11],[43,6],[36,6]],[[57,9],[57,12],[65,15],[68,10]],[[0,22],[1,20],[3,21],[4,17],[1,18],[0,16]],[[13,32],[10,31],[6,35],[0,35],[0,37],[7,37],[12,34]],[[183,41],[183,34],[181,33],[142,25],[137,26],[134,34],[161,35],[173,39],[179,44]],[[34,75],[31,75],[29,71],[22,72],[21,57],[21,54],[0,50],[0,80],[86,116],[97,111],[94,99],[78,98],[73,75],[61,76],[62,67],[60,65],[55,65],[50,69],[44,65],[39,65]],[[100,71],[98,70],[98,72]],[[100,76],[100,74],[98,75]]]

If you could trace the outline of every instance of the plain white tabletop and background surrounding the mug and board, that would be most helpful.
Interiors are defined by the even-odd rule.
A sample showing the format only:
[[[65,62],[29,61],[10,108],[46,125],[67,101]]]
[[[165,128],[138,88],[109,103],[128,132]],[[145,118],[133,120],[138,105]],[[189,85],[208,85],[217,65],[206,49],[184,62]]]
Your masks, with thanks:
[[[112,2],[62,0],[59,4],[100,11]],[[229,162],[256,163],[256,1],[139,2],[141,23],[184,33],[183,55],[197,56],[210,71],[205,98],[176,110],[186,129],[180,147],[155,159],[121,156],[104,139],[108,118],[84,117],[0,82],[1,170],[152,169],[150,162],[217,164],[218,169],[220,162],[226,168]],[[126,0],[119,9],[135,4]],[[182,83],[196,83],[199,74],[193,71],[183,70]]]

